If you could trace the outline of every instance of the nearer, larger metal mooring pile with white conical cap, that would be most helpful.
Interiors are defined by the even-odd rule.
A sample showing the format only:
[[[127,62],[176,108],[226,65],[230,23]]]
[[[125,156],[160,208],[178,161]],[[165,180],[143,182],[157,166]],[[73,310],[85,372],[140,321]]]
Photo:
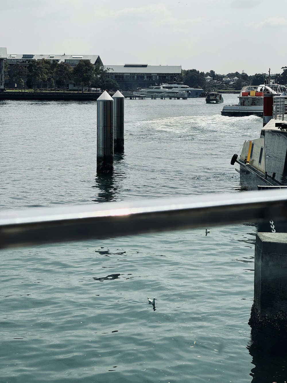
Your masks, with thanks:
[[[114,100],[104,91],[97,100],[97,173],[114,170]]]

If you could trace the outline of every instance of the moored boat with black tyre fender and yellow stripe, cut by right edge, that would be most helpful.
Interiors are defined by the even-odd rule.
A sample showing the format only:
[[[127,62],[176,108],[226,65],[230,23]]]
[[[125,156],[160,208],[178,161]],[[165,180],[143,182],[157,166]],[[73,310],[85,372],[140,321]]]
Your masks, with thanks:
[[[267,114],[271,116],[260,137],[245,141],[240,157],[234,154],[230,162],[240,165],[236,170],[243,187],[257,190],[258,185],[261,188],[287,185],[287,93],[274,96],[270,109]]]

